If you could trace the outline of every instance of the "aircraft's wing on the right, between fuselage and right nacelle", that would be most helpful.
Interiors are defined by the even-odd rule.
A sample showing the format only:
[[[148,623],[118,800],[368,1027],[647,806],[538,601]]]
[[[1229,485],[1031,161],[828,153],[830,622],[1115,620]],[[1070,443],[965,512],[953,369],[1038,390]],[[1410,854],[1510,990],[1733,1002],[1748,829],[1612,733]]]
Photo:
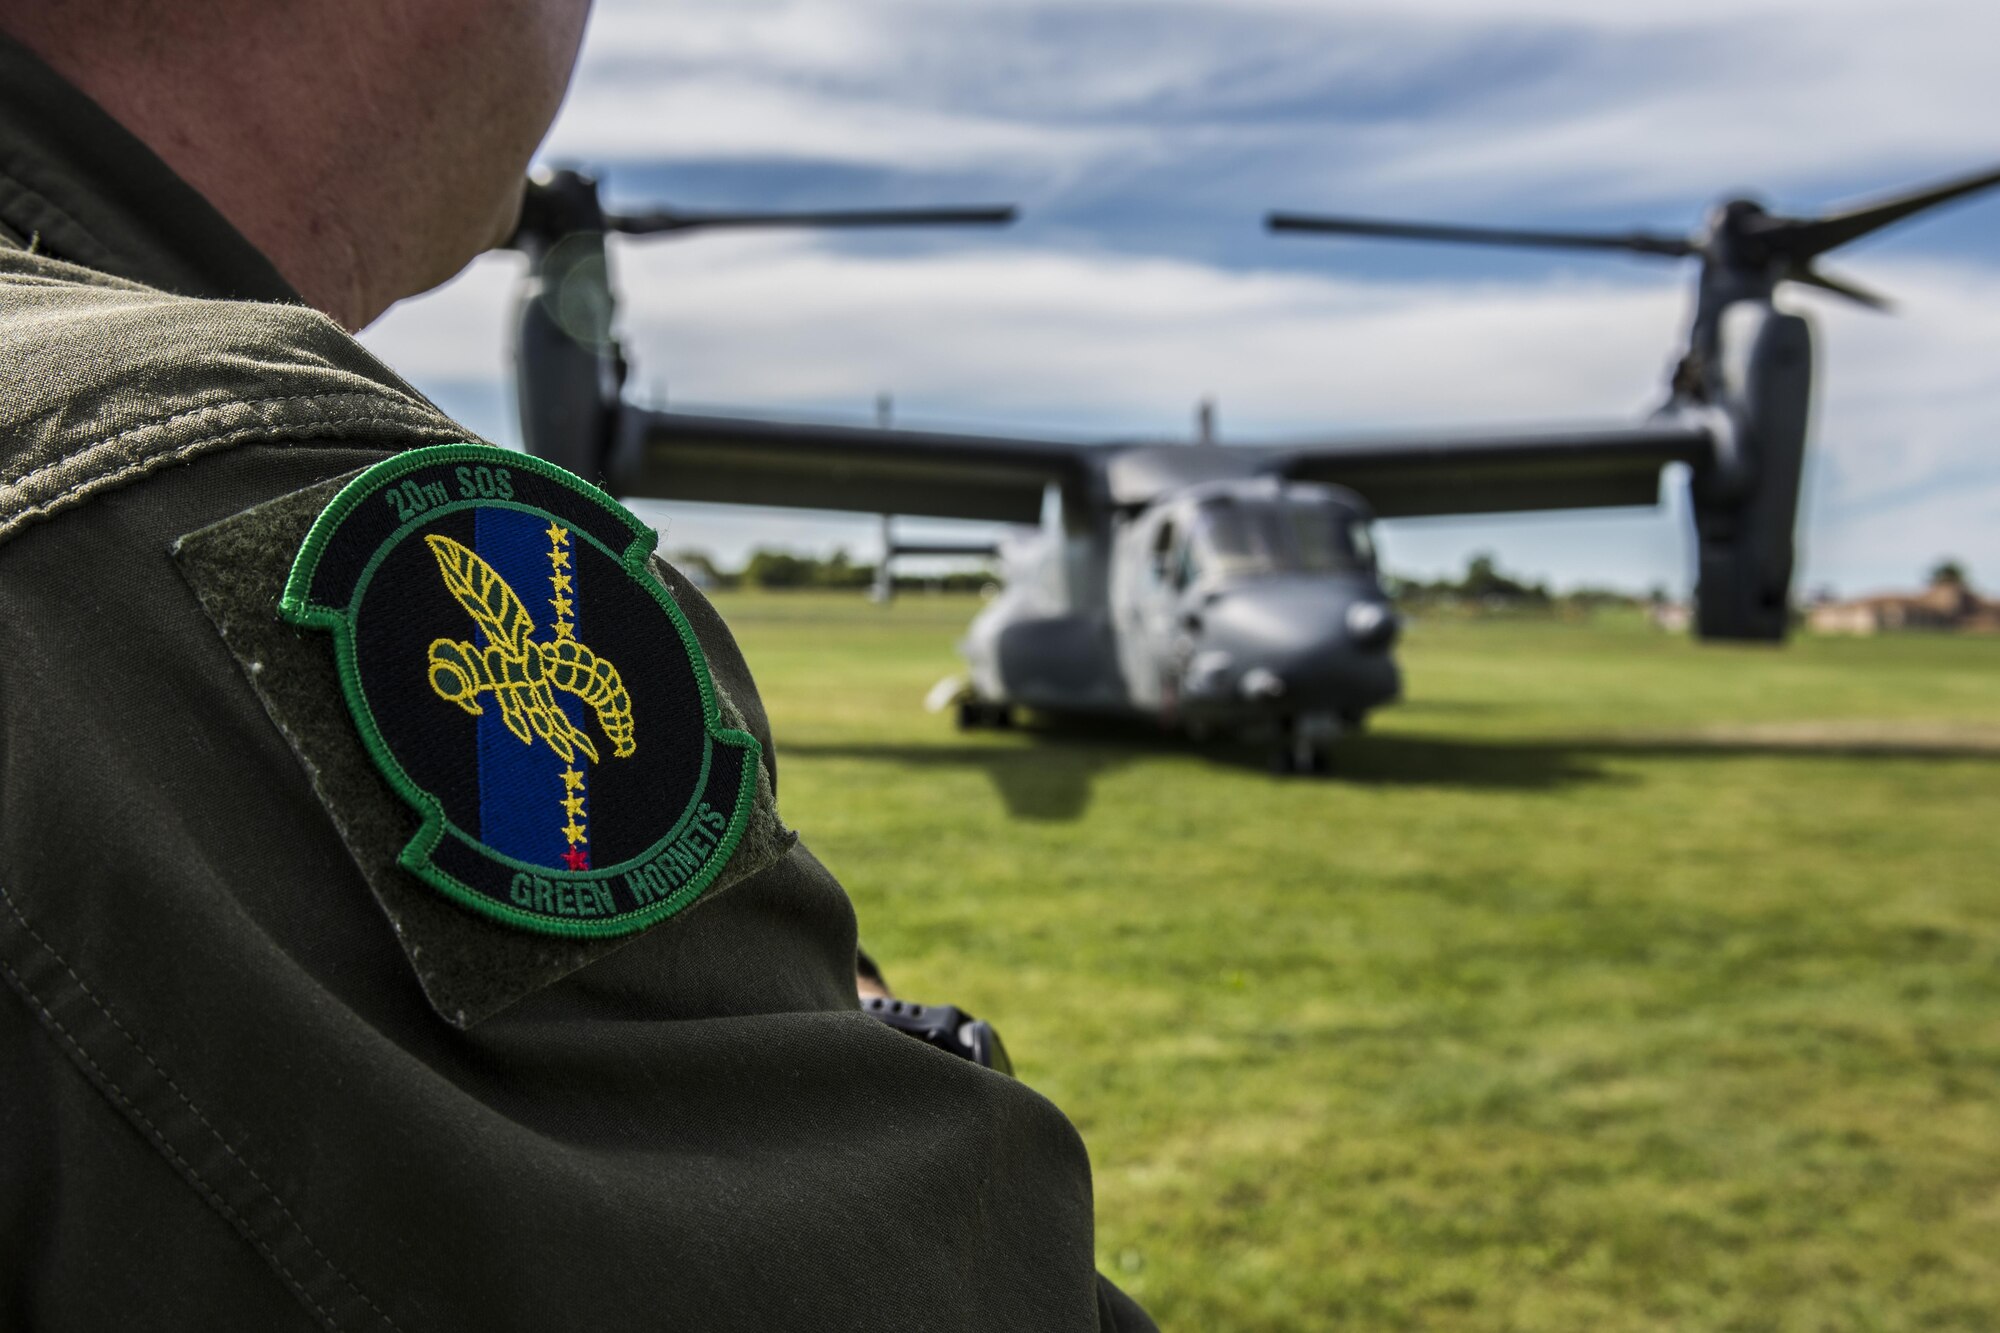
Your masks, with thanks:
[[[1276,446],[1260,470],[1360,492],[1382,518],[1656,504],[1660,468],[1710,462],[1698,424]]]

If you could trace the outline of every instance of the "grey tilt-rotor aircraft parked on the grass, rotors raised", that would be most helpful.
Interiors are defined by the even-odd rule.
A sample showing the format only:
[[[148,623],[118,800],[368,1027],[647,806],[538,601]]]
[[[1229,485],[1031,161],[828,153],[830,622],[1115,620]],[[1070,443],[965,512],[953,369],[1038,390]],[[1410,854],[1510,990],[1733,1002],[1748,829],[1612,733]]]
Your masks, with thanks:
[[[1040,524],[1002,542],[1004,590],[972,620],[962,725],[1016,707],[1150,715],[1194,735],[1274,743],[1316,771],[1396,699],[1396,614],[1370,522],[1418,514],[1658,504],[1686,464],[1704,638],[1782,640],[1812,402],[1812,332],[1784,282],[1882,306],[1816,260],[1892,222],[2000,184],[2000,170],[1820,218],[1752,200],[1696,236],[1502,230],[1272,214],[1278,232],[1558,246],[1698,260],[1694,318],[1646,420],[1532,434],[1272,444],[1064,442],[742,416],[624,400],[606,234],[712,226],[996,222],[1004,208],[834,214],[606,214],[596,184],[530,186],[518,388],[526,446],[632,498]],[[1044,518],[1048,492],[1060,516]],[[884,520],[886,528],[886,520]],[[894,546],[894,554],[936,550]]]

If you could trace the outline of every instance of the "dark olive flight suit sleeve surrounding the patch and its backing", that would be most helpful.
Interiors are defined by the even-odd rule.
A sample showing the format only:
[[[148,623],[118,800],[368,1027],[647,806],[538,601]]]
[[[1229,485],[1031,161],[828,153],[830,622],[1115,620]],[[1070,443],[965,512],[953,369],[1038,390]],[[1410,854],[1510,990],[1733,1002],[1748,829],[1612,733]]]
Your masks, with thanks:
[[[854,913],[804,845],[436,1011],[258,693],[288,658],[232,650],[172,556],[380,456],[246,444],[0,542],[0,1039],[50,1109],[0,1147],[38,1233],[8,1313],[88,1287],[140,1327],[174,1287],[210,1327],[272,1327],[274,1293],[330,1329],[1150,1327],[1094,1273],[1076,1131],[854,1007]],[[150,1169],[114,1181],[114,1145]]]

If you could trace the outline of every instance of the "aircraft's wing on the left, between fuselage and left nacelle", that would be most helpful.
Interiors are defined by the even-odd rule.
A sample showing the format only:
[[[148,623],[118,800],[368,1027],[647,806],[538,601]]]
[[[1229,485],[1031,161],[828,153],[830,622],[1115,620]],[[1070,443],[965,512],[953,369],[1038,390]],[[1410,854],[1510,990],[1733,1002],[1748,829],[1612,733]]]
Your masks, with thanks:
[[[1042,518],[1054,482],[1092,486],[1098,446],[626,408],[628,496],[846,508],[868,514]]]

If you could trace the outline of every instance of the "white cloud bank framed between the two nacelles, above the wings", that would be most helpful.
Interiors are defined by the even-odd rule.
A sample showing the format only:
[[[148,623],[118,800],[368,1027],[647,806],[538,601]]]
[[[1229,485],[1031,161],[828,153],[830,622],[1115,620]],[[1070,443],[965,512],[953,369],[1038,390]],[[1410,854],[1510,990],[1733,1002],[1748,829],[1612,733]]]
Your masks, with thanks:
[[[662,294],[634,300],[628,326],[678,398],[810,406],[892,388],[920,410],[1176,432],[1204,392],[1234,428],[1264,430],[1630,408],[1678,306],[1672,288],[1462,290],[1018,250],[862,258],[788,240],[652,250],[624,272]]]

